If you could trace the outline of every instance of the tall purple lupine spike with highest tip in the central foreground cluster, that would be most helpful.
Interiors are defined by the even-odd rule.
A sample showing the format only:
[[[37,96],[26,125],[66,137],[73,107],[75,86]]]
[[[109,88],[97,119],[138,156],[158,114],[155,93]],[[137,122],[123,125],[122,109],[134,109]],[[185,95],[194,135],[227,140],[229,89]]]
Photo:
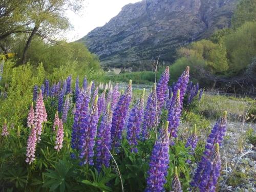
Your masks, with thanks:
[[[112,150],[116,148],[118,153],[118,147],[120,146],[120,140],[122,139],[122,132],[124,130],[124,123],[126,119],[127,112],[129,110],[129,105],[132,100],[132,80],[125,90],[125,93],[120,96],[116,109],[113,113],[112,127],[111,127],[111,141]]]

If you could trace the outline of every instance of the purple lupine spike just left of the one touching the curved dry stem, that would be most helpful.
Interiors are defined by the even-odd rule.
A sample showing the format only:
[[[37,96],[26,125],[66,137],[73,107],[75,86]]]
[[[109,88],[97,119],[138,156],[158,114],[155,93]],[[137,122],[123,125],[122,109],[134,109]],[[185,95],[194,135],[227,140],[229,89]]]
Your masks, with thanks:
[[[79,140],[79,158],[81,159],[82,164],[93,165],[94,157],[94,145],[95,137],[97,133],[97,124],[98,124],[98,95],[95,98],[95,101],[92,105],[91,112],[87,114],[81,121],[84,123],[84,126],[81,127],[81,136]]]

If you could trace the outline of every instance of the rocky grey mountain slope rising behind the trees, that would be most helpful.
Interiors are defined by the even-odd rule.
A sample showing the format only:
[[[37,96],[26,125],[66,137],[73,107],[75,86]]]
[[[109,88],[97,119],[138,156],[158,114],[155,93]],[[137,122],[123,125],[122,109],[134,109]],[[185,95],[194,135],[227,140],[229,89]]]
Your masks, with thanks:
[[[150,69],[160,56],[173,62],[175,50],[229,27],[238,0],[143,0],[125,5],[109,23],[78,41],[102,65]]]

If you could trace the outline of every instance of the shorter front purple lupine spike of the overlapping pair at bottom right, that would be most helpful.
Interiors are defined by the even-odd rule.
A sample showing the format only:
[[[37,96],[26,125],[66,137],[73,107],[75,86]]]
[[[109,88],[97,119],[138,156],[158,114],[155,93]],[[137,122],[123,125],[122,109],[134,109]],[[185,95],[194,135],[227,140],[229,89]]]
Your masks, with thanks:
[[[202,179],[199,183],[200,192],[216,191],[218,178],[220,177],[221,159],[219,153],[219,143],[215,144],[214,153],[206,162],[206,167],[202,173]]]

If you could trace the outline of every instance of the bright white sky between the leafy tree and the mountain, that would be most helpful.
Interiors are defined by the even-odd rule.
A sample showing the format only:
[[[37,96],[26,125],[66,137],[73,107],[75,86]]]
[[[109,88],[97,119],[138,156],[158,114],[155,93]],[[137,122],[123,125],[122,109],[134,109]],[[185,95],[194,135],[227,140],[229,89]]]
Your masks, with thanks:
[[[140,2],[140,0],[86,0],[84,9],[79,14],[68,11],[70,23],[73,29],[66,33],[68,41],[77,40],[87,33],[101,27],[116,16],[122,7],[129,3]]]

